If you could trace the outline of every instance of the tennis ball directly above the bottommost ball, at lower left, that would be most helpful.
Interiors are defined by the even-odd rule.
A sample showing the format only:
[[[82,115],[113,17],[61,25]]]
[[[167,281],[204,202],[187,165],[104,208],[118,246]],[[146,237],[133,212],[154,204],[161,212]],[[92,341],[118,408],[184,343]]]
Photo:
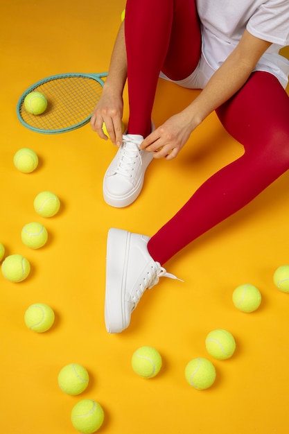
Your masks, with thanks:
[[[58,374],[58,385],[60,389],[70,395],[83,392],[88,385],[89,375],[85,367],[77,363],[71,363],[62,367]]]

